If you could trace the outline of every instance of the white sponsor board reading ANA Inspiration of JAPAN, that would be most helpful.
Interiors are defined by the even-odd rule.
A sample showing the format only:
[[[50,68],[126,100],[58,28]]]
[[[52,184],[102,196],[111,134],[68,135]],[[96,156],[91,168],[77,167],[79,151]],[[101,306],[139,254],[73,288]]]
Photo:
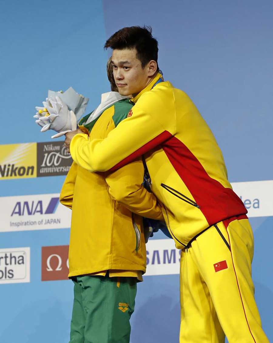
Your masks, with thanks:
[[[0,198],[0,231],[68,228],[71,210],[60,204],[59,194]]]

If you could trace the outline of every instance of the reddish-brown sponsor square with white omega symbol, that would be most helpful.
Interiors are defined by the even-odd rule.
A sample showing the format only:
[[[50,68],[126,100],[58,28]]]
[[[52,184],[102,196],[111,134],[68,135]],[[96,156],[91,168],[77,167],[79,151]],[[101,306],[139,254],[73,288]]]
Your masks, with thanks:
[[[42,281],[67,280],[68,245],[42,247]]]

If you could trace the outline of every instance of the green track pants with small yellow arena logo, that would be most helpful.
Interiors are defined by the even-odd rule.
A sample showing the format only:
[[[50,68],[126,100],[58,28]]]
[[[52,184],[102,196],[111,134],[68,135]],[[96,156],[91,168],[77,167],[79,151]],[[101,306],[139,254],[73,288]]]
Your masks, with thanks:
[[[129,343],[134,277],[77,276],[69,343]]]

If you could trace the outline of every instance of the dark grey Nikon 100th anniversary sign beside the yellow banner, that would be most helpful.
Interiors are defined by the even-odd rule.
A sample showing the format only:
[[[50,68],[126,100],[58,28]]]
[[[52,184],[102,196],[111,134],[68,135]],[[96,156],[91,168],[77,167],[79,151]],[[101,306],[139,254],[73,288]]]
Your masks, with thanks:
[[[72,158],[63,142],[37,143],[37,176],[66,175]]]

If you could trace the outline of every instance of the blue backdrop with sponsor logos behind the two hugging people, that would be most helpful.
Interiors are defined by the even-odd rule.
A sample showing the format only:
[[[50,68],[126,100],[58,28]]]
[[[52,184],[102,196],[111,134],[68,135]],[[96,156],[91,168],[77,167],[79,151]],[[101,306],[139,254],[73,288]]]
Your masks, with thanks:
[[[0,13],[0,342],[69,341],[71,213],[58,202],[71,157],[34,123],[47,90],[109,91],[103,50],[122,26],[151,25],[164,77],[186,91],[223,150],[254,231],[253,280],[273,340],[272,1],[49,0]],[[29,143],[31,142],[31,143]],[[131,342],[178,342],[179,259],[171,239],[147,244]],[[14,328],[16,327],[16,330]]]

